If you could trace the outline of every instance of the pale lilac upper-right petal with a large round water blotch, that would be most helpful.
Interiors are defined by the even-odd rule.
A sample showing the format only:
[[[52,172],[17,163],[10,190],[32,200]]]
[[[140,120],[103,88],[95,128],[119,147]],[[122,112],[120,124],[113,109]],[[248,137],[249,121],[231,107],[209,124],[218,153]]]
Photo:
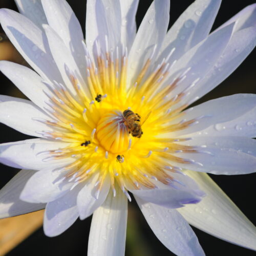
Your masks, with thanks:
[[[170,62],[179,59],[209,34],[220,8],[221,0],[197,0],[177,19],[165,36],[161,61],[175,47]]]

